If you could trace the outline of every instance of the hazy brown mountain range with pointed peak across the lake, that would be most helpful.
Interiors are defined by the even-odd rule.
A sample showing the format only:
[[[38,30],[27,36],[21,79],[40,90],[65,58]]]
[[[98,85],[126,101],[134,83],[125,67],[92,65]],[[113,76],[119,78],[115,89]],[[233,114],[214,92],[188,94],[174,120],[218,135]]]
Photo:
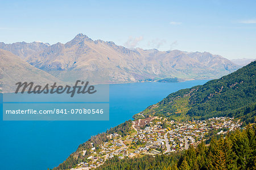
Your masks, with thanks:
[[[113,42],[92,40],[83,34],[65,44],[0,43],[0,49],[65,82],[89,80],[112,84],[156,78],[212,79],[240,68],[209,52],[128,49]]]

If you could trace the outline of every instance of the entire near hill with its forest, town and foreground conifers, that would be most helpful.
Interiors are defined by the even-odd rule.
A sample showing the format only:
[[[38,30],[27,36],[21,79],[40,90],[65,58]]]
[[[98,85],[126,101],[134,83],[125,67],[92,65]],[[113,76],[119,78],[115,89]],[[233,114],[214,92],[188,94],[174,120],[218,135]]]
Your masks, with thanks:
[[[172,93],[53,169],[254,169],[255,68]]]

